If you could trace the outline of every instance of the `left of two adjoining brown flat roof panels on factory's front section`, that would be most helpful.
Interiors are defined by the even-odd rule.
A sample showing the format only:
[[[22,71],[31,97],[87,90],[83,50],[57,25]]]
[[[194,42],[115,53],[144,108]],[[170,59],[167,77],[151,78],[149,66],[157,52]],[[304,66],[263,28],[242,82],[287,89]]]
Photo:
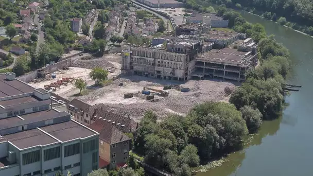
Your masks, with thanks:
[[[38,146],[38,145],[48,145],[58,142],[58,140],[47,135],[46,133],[38,130],[32,129],[27,131],[22,131],[18,133],[13,133],[5,135],[5,138],[9,140],[12,144],[20,149],[25,149],[28,147]]]

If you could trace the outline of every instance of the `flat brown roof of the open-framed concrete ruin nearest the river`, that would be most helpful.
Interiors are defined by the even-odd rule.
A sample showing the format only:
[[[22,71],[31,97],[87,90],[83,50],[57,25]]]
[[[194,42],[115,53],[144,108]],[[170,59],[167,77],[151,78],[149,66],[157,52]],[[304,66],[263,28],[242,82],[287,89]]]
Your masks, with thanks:
[[[239,64],[248,54],[249,52],[237,51],[237,49],[234,48],[224,48],[221,50],[212,49],[211,51],[204,52],[199,59],[213,62]]]

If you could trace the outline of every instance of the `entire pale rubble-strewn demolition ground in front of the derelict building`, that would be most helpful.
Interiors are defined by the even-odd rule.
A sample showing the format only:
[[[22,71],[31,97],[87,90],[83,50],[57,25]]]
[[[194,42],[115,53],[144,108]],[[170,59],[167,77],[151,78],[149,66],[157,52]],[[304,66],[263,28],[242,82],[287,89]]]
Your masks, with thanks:
[[[142,76],[123,76],[120,75],[120,63],[121,56],[114,54],[91,60],[76,59],[74,64],[76,67],[69,67],[68,70],[56,72],[56,79],[38,83],[31,82],[29,84],[37,88],[43,88],[44,85],[56,82],[63,77],[82,78],[88,83],[85,95],[73,96],[79,93],[79,90],[73,84],[62,85],[55,93],[68,100],[78,98],[91,105],[103,103],[108,110],[121,115],[130,115],[137,121],[143,117],[147,110],[154,111],[160,119],[163,119],[171,113],[186,115],[195,104],[204,101],[228,101],[229,96],[225,95],[224,88],[229,86],[231,89],[234,89],[235,87],[234,83],[223,82],[221,80],[189,80],[187,82],[179,82]],[[116,79],[104,86],[95,87],[93,85],[94,81],[88,76],[91,68],[95,66],[105,68],[114,67],[115,71],[110,73],[109,78],[114,77]],[[120,86],[119,83],[123,83],[123,86]],[[166,90],[169,93],[168,97],[161,97],[155,93],[152,100],[146,100],[146,95],[141,94],[144,86],[163,90],[164,85],[188,87],[190,91],[183,93],[176,89]],[[125,99],[125,93],[133,93],[134,96]]]

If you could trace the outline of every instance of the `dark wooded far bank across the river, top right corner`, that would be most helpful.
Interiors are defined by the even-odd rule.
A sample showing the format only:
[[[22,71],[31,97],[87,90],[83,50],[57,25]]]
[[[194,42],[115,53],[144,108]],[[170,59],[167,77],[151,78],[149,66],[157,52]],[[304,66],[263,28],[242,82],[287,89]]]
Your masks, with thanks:
[[[208,12],[211,4],[225,5],[230,8],[243,8],[253,13],[262,14],[266,19],[276,21],[279,17],[283,25],[313,35],[313,1],[312,0],[179,0],[186,8]],[[287,22],[289,21],[289,22]]]

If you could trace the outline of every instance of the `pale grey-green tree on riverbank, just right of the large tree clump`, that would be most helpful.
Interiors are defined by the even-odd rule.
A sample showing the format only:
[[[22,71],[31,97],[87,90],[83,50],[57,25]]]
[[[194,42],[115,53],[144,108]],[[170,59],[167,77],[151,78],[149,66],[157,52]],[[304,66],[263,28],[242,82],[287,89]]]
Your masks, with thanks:
[[[240,108],[242,118],[246,121],[250,133],[255,133],[262,125],[262,114],[256,109],[244,106]]]

